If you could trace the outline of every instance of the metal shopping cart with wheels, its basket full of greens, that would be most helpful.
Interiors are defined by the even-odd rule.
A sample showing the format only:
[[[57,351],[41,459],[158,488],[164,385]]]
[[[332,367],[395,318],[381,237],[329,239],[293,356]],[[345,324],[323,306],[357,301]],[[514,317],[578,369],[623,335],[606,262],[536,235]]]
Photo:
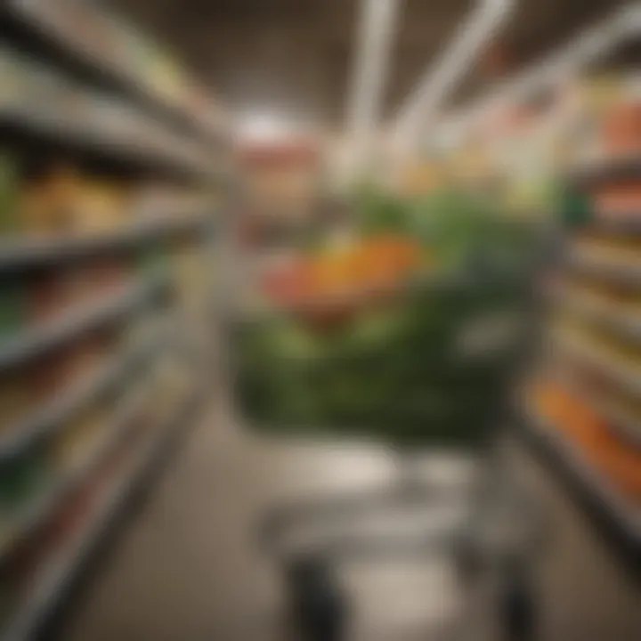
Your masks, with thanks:
[[[239,323],[236,390],[250,425],[279,434],[373,437],[401,461],[394,484],[280,506],[262,523],[261,541],[282,563],[300,638],[345,638],[347,599],[335,564],[413,553],[450,555],[470,595],[491,575],[502,638],[533,637],[535,510],[499,447],[509,390],[531,337],[530,284],[525,268],[468,264],[434,273],[385,296],[357,336],[331,329],[314,332],[310,342],[296,314]],[[434,448],[474,457],[472,480],[419,475],[418,454]],[[453,506],[463,516],[436,527],[344,527],[377,513]]]

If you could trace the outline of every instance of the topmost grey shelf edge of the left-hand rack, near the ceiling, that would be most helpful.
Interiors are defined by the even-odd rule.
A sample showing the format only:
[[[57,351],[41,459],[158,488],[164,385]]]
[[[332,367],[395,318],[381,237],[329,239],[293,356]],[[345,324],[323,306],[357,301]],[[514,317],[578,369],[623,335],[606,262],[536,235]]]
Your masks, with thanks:
[[[95,44],[78,33],[77,25],[65,24],[62,12],[53,3],[9,0],[2,10],[5,28],[28,49],[35,50],[54,65],[81,77],[101,89],[118,93],[140,107],[150,118],[177,134],[207,141],[210,147],[229,142],[221,119],[216,126],[199,122],[186,106],[162,95],[145,77],[110,61],[95,51]],[[97,11],[93,9],[93,11]],[[85,38],[85,41],[83,41]]]

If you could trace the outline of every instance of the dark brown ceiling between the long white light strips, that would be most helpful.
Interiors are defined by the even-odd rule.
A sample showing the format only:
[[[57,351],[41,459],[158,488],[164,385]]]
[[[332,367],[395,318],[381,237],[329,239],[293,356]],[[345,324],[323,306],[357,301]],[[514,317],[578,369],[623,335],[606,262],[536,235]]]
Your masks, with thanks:
[[[474,0],[400,0],[385,118],[450,42]],[[515,0],[506,28],[450,104],[486,91],[626,0]],[[211,85],[236,115],[339,130],[353,65],[358,0],[110,0]]]

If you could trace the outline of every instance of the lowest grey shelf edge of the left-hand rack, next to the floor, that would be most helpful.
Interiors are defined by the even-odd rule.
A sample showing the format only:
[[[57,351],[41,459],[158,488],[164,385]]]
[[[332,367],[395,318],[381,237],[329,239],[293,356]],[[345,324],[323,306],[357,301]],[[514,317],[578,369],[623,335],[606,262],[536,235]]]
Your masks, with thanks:
[[[124,469],[118,470],[118,479],[98,500],[84,527],[37,572],[35,588],[6,626],[2,641],[28,641],[45,628],[101,540],[118,522],[129,499],[162,462],[175,439],[183,435],[185,426],[189,428],[195,423],[201,404],[200,394],[193,394],[165,426],[151,430],[140,447],[129,454]]]

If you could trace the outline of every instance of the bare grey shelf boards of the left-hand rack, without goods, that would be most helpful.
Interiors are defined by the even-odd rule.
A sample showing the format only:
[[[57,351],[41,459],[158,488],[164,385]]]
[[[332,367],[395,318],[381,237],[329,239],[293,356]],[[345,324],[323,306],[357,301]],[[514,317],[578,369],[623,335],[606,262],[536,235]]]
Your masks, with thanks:
[[[56,4],[67,4],[67,1],[8,0],[0,7],[0,29],[20,54],[31,54],[40,67],[65,77],[73,88],[75,101],[82,102],[86,92],[86,104],[78,111],[86,118],[65,118],[64,112],[56,111],[53,105],[46,105],[47,109],[41,111],[27,110],[20,101],[0,98],[0,132],[11,139],[24,136],[29,141],[42,141],[80,158],[86,156],[92,161],[103,158],[131,169],[134,174],[142,170],[163,179],[174,176],[178,183],[216,189],[223,194],[223,204],[217,203],[215,208],[225,207],[224,202],[233,189],[231,136],[214,103],[215,118],[204,119],[186,102],[170,99],[115,59],[98,54],[86,36],[83,40],[83,34],[74,30],[73,24],[64,24],[61,16],[65,13],[58,12]],[[100,16],[96,17],[100,20]],[[100,114],[92,116],[96,94],[113,96],[130,109],[135,122],[144,126],[148,134],[146,141],[131,138],[131,123],[122,132],[113,126],[101,126]],[[213,206],[167,214],[171,215],[132,223],[126,229],[109,234],[55,239],[0,238],[0,276],[80,265],[98,256],[129,256],[144,247],[157,247],[158,243],[165,246],[174,239],[183,239],[202,251],[212,250],[217,244]],[[8,374],[27,362],[37,363],[45,354],[73,344],[96,329],[118,327],[137,312],[159,309],[158,304],[171,305],[173,280],[173,274],[161,273],[148,280],[130,282],[106,299],[64,312],[44,326],[20,332],[0,346],[0,373]],[[9,426],[0,437],[0,466],[56,434],[94,400],[109,396],[132,368],[152,368],[161,354],[180,353],[184,357],[181,339],[191,336],[191,331],[181,326],[183,322],[186,322],[183,317],[174,314],[161,336],[122,349],[94,368],[88,378],[70,385],[56,398]],[[207,394],[201,388],[199,377],[193,379],[191,391],[182,394],[181,401],[163,418],[162,425],[140,437],[136,436],[135,423],[144,385],[134,390],[134,394],[126,394],[116,404],[109,424],[104,426],[104,435],[89,455],[51,483],[42,496],[12,515],[10,526],[5,526],[0,534],[0,575],[11,566],[22,544],[37,538],[40,528],[64,505],[69,495],[81,490],[105,461],[120,452],[122,460],[117,472],[110,475],[93,497],[82,523],[69,534],[69,540],[61,548],[37,565],[28,591],[12,605],[8,618],[0,623],[2,641],[27,641],[41,633],[69,594],[93,550],[118,522],[129,499],[174,449],[174,443],[186,429],[195,423]]]

